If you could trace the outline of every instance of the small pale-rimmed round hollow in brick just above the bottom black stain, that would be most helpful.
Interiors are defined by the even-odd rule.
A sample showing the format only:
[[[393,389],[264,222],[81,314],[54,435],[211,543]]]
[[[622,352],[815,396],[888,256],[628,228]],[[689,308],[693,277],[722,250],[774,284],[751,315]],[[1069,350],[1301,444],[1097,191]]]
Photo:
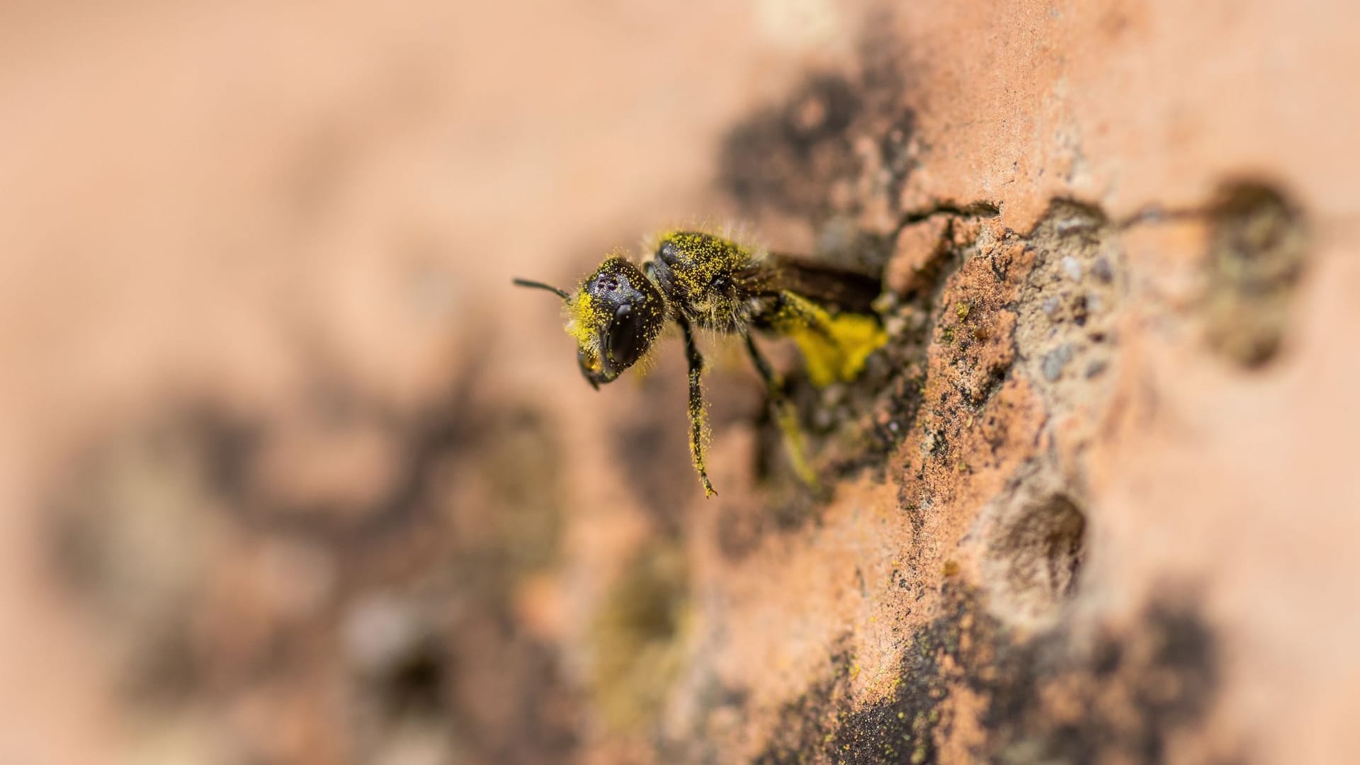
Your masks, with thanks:
[[[1042,626],[1077,591],[1087,517],[1062,493],[1017,493],[987,535],[982,573],[997,615]]]

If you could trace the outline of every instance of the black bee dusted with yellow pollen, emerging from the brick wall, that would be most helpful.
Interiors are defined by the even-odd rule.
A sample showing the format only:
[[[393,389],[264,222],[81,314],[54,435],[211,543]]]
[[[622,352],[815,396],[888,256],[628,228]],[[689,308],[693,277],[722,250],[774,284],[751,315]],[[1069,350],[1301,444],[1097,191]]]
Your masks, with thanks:
[[[869,354],[887,342],[872,308],[881,291],[879,279],[704,231],[664,231],[641,267],[615,252],[574,291],[528,279],[514,283],[562,298],[567,333],[577,342],[577,365],[596,389],[642,359],[668,323],[680,327],[690,369],[690,455],[706,497],[717,491],[704,467],[709,432],[696,328],[743,339],[794,470],[812,485],[816,476],[802,457],[783,382],[752,335],[793,339],[817,387],[853,380]]]

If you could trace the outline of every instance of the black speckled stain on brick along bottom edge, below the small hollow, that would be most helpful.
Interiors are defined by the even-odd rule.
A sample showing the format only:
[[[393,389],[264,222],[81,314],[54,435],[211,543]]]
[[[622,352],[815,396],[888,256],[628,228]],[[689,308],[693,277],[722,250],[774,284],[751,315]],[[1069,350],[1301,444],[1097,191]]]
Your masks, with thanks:
[[[951,704],[966,687],[985,705],[978,761],[1156,764],[1217,698],[1217,638],[1176,595],[1149,603],[1125,632],[1100,630],[1093,645],[1068,632],[1021,641],[974,593],[945,596],[945,613],[911,636],[888,697],[854,709],[855,657],[840,649],[827,677],[785,705],[756,761],[936,762],[953,715],[972,713]]]

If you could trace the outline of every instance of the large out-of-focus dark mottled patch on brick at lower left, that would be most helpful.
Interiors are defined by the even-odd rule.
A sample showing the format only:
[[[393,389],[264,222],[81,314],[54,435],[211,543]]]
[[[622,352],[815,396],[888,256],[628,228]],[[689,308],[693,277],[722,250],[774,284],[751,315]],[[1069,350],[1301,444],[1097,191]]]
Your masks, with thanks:
[[[363,459],[330,464],[347,449]],[[53,490],[50,559],[131,704],[228,739],[306,719],[356,757],[416,726],[449,757],[560,761],[577,691],[515,607],[558,562],[560,463],[544,414],[476,370],[407,407],[330,370],[294,402],[171,403],[91,441]],[[375,592],[407,604],[405,637],[359,660],[345,633]],[[294,702],[337,686],[358,720]],[[215,712],[243,698],[273,711],[262,728]]]

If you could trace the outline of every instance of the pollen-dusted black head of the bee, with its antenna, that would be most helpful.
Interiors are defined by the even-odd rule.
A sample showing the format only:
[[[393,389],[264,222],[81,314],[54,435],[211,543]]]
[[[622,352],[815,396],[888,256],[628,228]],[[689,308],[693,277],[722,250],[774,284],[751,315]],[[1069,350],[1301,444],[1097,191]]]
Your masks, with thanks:
[[[567,306],[567,333],[577,339],[581,376],[598,388],[642,358],[665,324],[661,290],[634,264],[609,257],[575,293],[537,282],[515,280],[562,295]]]

